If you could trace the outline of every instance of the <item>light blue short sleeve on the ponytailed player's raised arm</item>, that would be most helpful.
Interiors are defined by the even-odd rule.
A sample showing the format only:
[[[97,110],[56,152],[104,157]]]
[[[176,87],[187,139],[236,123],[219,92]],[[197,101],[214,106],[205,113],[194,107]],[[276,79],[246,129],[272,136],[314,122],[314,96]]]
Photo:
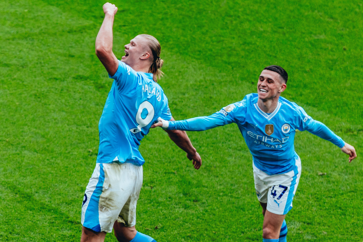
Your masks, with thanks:
[[[138,75],[134,69],[118,60],[118,68],[116,73],[111,77],[115,80],[117,90],[120,93],[130,93],[136,89],[138,84]]]

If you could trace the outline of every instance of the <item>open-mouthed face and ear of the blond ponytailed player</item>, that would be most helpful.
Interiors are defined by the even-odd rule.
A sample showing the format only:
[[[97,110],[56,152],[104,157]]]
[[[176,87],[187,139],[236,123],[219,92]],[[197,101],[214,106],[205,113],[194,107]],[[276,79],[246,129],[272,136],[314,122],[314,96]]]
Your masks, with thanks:
[[[139,66],[141,63],[148,61],[151,56],[151,50],[147,46],[147,41],[145,38],[136,36],[130,40],[130,44],[125,45],[125,56],[121,58],[121,61],[131,68],[134,66]],[[150,66],[150,65],[149,65]]]

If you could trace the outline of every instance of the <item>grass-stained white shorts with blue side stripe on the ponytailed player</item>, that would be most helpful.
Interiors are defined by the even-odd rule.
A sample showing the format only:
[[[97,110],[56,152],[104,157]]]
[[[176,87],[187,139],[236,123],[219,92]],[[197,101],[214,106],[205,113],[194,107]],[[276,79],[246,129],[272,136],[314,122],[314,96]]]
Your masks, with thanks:
[[[134,226],[142,179],[142,166],[97,163],[83,197],[82,225],[107,233],[112,232],[116,220]]]

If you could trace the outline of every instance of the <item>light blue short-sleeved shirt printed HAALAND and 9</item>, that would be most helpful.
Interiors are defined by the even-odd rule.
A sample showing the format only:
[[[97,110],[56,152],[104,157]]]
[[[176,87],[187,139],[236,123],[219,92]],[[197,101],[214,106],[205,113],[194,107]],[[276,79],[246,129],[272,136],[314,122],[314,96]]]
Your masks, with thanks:
[[[119,61],[99,120],[97,163],[144,164],[140,141],[158,117],[171,119],[168,99],[151,73],[136,72]]]

